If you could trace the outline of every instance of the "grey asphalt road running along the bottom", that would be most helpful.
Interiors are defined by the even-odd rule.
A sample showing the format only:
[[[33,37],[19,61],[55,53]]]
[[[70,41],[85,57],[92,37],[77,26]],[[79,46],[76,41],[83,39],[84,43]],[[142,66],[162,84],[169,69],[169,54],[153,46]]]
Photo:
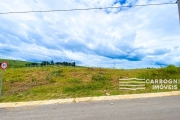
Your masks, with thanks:
[[[0,120],[180,120],[180,96],[1,108]]]

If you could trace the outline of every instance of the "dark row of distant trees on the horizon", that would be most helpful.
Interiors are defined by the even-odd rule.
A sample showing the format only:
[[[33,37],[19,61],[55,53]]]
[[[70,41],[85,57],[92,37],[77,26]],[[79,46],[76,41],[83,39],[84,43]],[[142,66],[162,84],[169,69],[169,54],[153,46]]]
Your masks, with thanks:
[[[47,65],[62,65],[62,66],[76,66],[75,62],[55,62],[52,60],[49,61],[42,61],[41,63],[28,63],[26,66],[47,66]]]

